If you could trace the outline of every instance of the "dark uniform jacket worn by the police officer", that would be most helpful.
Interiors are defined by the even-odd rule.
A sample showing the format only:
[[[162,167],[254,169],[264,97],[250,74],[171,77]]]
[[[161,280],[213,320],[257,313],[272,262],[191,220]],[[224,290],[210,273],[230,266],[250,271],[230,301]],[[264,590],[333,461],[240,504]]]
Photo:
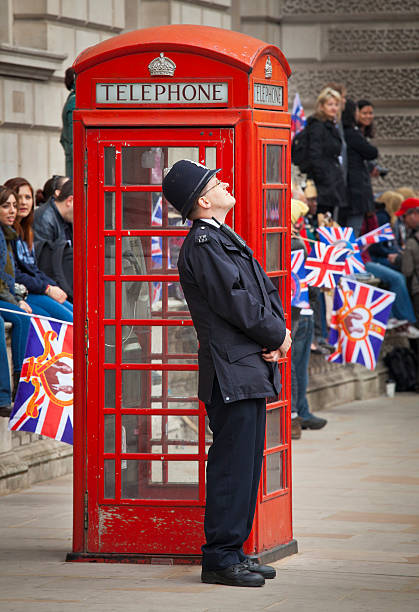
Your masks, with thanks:
[[[200,345],[199,399],[209,403],[215,375],[225,403],[278,394],[277,364],[265,362],[261,352],[281,346],[285,320],[278,290],[259,263],[198,220],[178,269]]]

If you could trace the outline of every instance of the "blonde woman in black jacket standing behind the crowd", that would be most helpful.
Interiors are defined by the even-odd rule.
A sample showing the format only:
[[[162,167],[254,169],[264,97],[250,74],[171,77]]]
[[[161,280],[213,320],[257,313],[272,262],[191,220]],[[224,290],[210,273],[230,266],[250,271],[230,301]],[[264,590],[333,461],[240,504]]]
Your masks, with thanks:
[[[314,115],[307,120],[308,163],[307,177],[314,180],[320,213],[332,212],[346,206],[345,181],[341,166],[342,139],[339,121],[340,94],[326,87],[316,101]]]

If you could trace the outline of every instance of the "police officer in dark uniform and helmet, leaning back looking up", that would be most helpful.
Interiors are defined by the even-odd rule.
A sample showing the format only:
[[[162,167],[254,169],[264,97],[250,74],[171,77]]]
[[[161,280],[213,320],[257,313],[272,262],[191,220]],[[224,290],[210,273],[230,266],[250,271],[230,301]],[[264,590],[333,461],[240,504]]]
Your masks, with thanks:
[[[182,245],[180,282],[199,340],[198,397],[208,452],[201,580],[262,586],[273,567],[243,552],[262,467],[266,397],[280,391],[277,361],[291,345],[278,291],[224,220],[235,204],[218,170],[181,160],[163,180],[165,198],[193,221]]]

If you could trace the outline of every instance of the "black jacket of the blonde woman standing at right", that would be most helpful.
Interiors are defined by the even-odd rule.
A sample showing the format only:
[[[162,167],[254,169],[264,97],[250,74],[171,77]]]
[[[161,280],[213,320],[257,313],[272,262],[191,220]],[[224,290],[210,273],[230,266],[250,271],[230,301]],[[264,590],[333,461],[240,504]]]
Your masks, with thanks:
[[[335,206],[346,206],[345,181],[339,156],[342,139],[332,121],[321,121],[316,117],[307,120],[308,178],[314,180],[317,203],[321,209],[333,210]]]

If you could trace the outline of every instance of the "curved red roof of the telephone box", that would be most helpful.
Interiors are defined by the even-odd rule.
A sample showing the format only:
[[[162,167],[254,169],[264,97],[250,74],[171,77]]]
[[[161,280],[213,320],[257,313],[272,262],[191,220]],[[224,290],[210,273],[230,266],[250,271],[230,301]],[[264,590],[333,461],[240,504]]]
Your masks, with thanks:
[[[196,25],[167,25],[134,30],[88,47],[74,62],[76,73],[122,55],[138,51],[189,51],[222,60],[250,72],[262,54],[276,57],[287,77],[291,74],[283,53],[274,45],[240,32]]]

